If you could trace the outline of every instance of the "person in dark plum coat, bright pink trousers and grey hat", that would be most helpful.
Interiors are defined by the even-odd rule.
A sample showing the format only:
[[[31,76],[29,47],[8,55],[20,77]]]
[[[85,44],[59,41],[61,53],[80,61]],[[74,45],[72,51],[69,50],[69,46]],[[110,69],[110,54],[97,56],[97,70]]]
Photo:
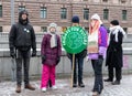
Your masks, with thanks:
[[[50,24],[50,32],[44,34],[41,44],[42,54],[42,81],[41,88],[42,92],[46,92],[48,81],[51,81],[52,88],[57,88],[55,85],[55,67],[61,61],[62,46],[61,38],[56,34],[56,23]]]

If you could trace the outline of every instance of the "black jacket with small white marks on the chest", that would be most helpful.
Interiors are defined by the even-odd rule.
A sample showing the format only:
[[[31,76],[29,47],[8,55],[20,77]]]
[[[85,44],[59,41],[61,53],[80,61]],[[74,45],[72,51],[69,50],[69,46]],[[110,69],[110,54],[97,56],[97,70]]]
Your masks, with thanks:
[[[35,33],[32,25],[15,23],[12,25],[9,34],[10,49],[32,47],[36,49]]]

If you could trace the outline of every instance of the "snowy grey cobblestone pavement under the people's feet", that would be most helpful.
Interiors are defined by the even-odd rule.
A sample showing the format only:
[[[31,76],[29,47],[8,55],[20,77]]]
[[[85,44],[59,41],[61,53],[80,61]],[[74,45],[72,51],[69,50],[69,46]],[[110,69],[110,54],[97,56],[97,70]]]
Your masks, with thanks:
[[[32,81],[31,84],[36,87],[35,90],[24,89],[24,86],[22,86],[22,93],[16,94],[15,82],[1,82],[0,96],[90,96],[94,77],[84,77],[85,88],[72,88],[70,78],[56,79],[57,89],[47,89],[46,93],[41,92],[40,83],[40,81]],[[105,83],[100,96],[132,96],[132,75],[123,75],[121,85]]]

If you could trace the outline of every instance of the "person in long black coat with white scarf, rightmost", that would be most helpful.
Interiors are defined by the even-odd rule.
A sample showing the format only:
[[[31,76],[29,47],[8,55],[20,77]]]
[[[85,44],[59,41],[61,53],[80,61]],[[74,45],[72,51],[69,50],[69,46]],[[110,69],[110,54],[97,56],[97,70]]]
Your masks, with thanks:
[[[108,66],[108,78],[105,82],[112,82],[112,85],[119,85],[122,78],[123,51],[122,41],[125,32],[119,25],[118,20],[110,22],[110,40],[107,50],[106,65]],[[113,82],[116,68],[116,81]]]

